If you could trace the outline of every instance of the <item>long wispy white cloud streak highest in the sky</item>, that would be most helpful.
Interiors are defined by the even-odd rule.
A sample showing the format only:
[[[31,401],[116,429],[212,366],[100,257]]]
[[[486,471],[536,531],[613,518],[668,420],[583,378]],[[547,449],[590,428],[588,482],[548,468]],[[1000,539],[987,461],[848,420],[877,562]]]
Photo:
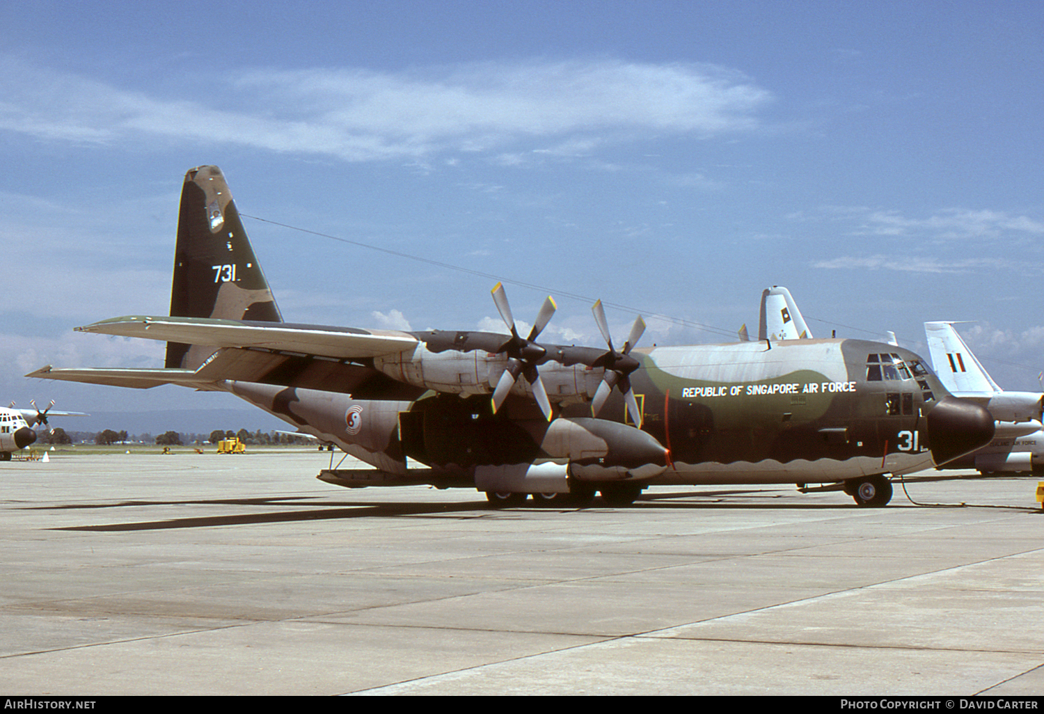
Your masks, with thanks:
[[[188,82],[188,97],[130,91],[0,58],[0,129],[62,142],[226,142],[347,161],[485,151],[554,138],[555,153],[607,136],[712,136],[758,125],[770,95],[696,64],[482,63],[406,73],[261,71]],[[599,138],[595,138],[599,135]]]

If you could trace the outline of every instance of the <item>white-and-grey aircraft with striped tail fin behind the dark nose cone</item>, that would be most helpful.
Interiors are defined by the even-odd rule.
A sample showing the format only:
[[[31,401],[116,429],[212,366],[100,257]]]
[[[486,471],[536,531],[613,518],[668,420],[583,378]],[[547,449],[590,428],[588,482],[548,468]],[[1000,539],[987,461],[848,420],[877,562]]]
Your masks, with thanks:
[[[1004,391],[993,381],[953,323],[925,323],[928,351],[940,381],[957,397],[975,401],[997,420],[989,445],[945,465],[982,473],[1019,473],[1044,469],[1041,410],[1044,394]]]

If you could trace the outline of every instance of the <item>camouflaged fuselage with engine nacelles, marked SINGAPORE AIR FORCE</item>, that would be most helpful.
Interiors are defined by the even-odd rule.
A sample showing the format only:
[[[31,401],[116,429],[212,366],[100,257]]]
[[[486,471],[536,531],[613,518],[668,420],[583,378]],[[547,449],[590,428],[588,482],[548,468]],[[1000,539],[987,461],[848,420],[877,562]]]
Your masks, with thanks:
[[[641,476],[654,483],[832,482],[911,473],[956,455],[942,449],[933,460],[928,433],[928,416],[948,392],[923,359],[891,344],[805,339],[635,351],[639,437],[617,391],[592,419],[590,400],[603,371],[588,365],[601,351],[545,346],[539,371],[555,404],[549,424],[527,399],[525,380],[504,409],[489,408],[506,366],[495,352],[503,335],[413,334],[422,339],[416,350],[371,365],[416,387],[400,399],[370,399],[359,385],[349,394],[333,384],[330,391],[245,382],[226,388],[390,473],[405,473],[407,457],[464,473],[579,460],[583,449],[569,439],[592,430],[609,444],[607,453],[614,445],[617,453],[642,451],[640,438],[662,445],[662,468]],[[609,433],[603,422],[618,426]],[[612,465],[612,456],[600,458]]]

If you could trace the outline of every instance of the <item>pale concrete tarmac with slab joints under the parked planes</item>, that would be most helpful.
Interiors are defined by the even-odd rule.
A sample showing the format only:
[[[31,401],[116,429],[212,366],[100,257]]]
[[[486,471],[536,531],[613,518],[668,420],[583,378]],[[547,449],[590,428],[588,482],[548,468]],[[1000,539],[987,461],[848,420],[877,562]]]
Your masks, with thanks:
[[[0,463],[0,693],[1044,692],[1036,478],[498,511],[327,466]]]

